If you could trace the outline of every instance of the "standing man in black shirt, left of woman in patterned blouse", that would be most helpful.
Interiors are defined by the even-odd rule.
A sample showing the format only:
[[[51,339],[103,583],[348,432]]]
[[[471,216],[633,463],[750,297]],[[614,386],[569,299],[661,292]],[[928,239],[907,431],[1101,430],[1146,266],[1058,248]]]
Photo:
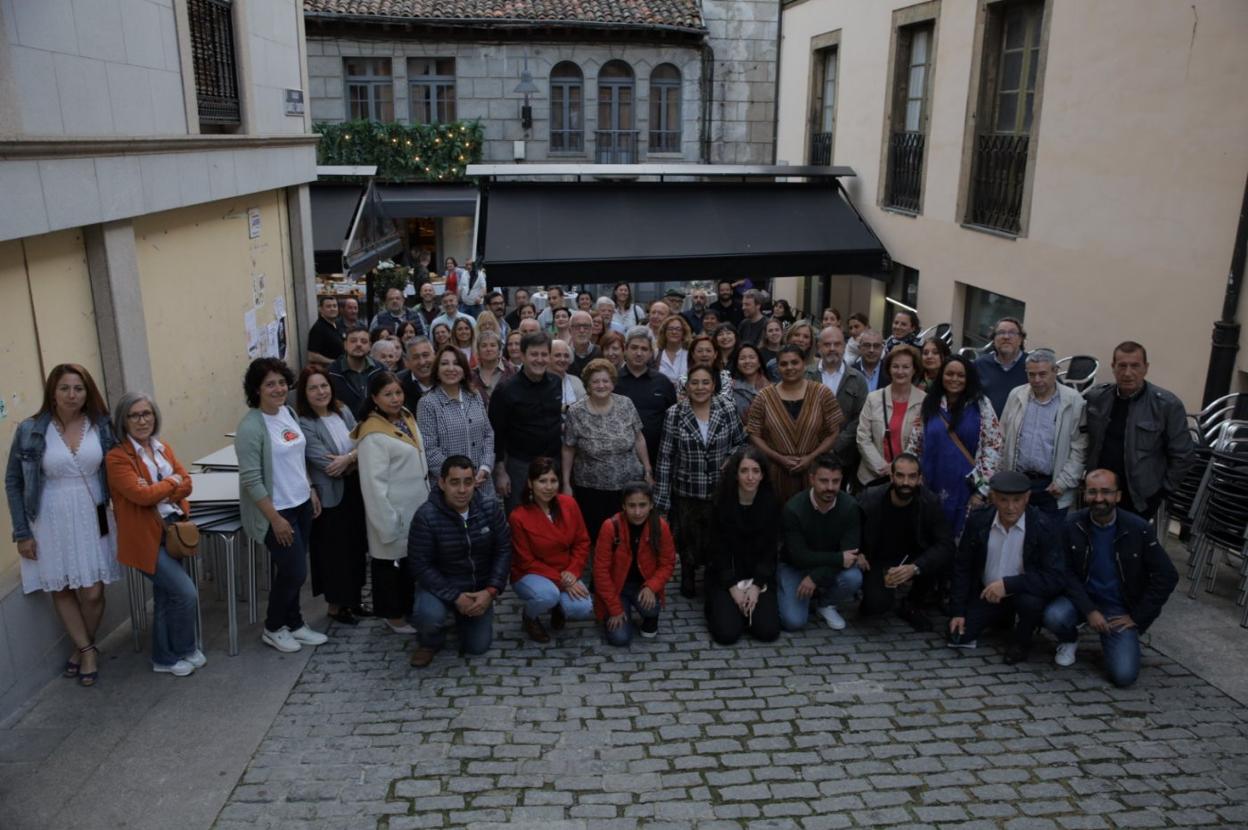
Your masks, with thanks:
[[[550,337],[545,332],[525,334],[520,353],[524,367],[489,396],[494,486],[507,499],[508,513],[524,493],[533,459],[545,456],[558,464],[563,451],[563,381],[547,372]]]

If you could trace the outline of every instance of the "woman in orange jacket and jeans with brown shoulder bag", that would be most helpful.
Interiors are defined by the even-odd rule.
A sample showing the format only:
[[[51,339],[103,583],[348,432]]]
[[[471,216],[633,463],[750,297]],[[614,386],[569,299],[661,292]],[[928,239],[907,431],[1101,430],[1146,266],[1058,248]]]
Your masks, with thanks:
[[[152,670],[185,678],[207,662],[195,647],[198,590],[165,550],[165,525],[190,515],[191,477],[156,439],[160,408],[150,397],[125,393],[112,419],[117,446],[105,464],[117,517],[117,560],[152,580]]]

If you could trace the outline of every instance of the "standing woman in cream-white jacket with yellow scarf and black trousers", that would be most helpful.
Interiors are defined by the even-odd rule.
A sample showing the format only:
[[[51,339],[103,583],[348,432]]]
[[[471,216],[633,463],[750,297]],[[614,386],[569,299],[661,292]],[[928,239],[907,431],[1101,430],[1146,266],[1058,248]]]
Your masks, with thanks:
[[[368,520],[373,613],[396,634],[414,634],[407,622],[416,585],[404,567],[407,533],[429,498],[429,468],[416,418],[403,406],[403,384],[391,372],[368,378],[368,413],[352,431],[359,453],[359,489]]]

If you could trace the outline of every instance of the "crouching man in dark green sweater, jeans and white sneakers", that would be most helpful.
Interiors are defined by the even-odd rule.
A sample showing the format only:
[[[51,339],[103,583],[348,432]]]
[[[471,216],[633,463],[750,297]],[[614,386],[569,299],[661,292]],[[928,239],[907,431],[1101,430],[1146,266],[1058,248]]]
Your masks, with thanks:
[[[811,602],[829,628],[845,628],[836,604],[852,599],[862,588],[867,564],[857,552],[861,517],[854,498],[841,492],[842,479],[836,456],[820,456],[810,468],[810,489],[784,507],[776,599],[786,632],[806,627]]]

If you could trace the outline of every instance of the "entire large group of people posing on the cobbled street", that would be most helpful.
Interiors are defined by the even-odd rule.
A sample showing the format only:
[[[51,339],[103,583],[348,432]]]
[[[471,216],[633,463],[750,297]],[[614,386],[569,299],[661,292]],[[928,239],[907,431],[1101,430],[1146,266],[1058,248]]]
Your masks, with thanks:
[[[1149,520],[1192,454],[1142,344],[1119,343],[1113,381],[1080,394],[1011,317],[970,359],[920,339],[911,311],[885,338],[865,315],[816,326],[723,281],[648,310],[628,283],[597,300],[552,286],[539,313],[528,291],[508,308],[484,273],[447,267],[453,290],[424,282],[408,308],[391,288],[371,325],[322,297],[298,376],[246,369],[235,446],[243,529],[272,559],[265,644],[327,640],[301,609],[311,572],[336,623],[414,635],[413,666],[451,625],[487,652],[508,585],[527,638],[597,618],[624,647],[658,635],[679,564],[716,643],[840,630],[857,604],[921,632],[942,612],[957,649],[1005,627],[1008,663],[1046,628],[1070,665],[1086,625],[1111,680],[1136,679],[1138,634],[1177,583]],[[205,664],[195,585],[165,544],[192,481],[160,423],[141,393],[110,418],[62,364],[9,456],[24,587],[52,594],[84,685],[119,563],[155,587],[154,669]]]

